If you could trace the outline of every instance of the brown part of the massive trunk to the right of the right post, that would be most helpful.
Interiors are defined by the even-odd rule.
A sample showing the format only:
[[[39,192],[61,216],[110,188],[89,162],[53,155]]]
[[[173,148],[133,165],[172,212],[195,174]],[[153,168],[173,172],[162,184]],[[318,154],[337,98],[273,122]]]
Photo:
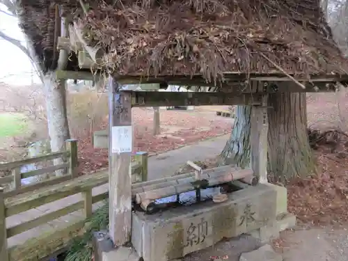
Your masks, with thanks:
[[[281,181],[315,171],[307,134],[306,93],[269,95],[269,173]]]

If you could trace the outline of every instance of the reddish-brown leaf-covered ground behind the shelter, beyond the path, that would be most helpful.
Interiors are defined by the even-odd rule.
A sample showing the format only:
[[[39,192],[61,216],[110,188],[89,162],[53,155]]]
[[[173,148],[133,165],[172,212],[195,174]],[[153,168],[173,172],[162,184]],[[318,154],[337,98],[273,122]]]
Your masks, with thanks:
[[[132,110],[134,152],[145,151],[149,155],[175,150],[197,141],[227,134],[232,122],[216,116],[213,111],[166,111],[160,110],[161,134],[154,136],[153,110]],[[106,129],[104,125],[95,130]],[[92,134],[79,140],[80,174],[91,173],[108,165],[108,150],[94,149]]]

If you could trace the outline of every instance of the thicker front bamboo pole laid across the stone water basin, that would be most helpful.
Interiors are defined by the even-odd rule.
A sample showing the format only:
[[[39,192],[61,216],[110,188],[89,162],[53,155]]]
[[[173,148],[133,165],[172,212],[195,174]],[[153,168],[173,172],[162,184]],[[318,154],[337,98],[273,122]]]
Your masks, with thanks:
[[[233,180],[240,180],[244,177],[248,177],[251,175],[253,175],[253,171],[251,169],[232,171],[230,173],[226,173],[225,175],[209,178],[209,186],[226,183]],[[168,196],[177,195],[180,193],[191,191],[193,189],[195,189],[195,187],[193,187],[191,182],[189,182],[184,184],[177,184],[171,187],[155,189],[152,191],[136,193],[136,203],[141,204],[141,202],[144,200],[157,200],[159,198],[166,198]]]

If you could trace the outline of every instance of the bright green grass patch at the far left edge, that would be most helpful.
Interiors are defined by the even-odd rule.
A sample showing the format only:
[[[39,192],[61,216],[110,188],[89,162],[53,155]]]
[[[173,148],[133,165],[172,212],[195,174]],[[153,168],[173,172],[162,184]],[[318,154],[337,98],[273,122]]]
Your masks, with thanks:
[[[0,137],[22,134],[26,130],[26,121],[19,113],[0,113]]]

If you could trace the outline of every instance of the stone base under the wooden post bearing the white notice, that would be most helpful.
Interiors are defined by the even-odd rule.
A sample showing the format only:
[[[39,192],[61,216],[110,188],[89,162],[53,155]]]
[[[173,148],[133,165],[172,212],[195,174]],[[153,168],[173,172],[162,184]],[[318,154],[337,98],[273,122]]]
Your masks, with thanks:
[[[95,261],[139,261],[140,257],[132,247],[115,248],[107,231],[93,233],[93,253]]]

